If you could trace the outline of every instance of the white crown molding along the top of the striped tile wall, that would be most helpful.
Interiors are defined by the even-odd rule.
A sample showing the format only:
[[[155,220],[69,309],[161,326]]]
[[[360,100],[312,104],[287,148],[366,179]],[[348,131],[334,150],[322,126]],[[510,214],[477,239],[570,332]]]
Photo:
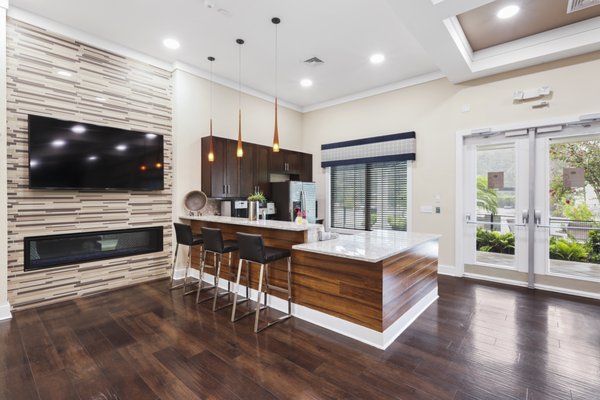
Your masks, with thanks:
[[[0,7],[2,6],[2,1],[5,0],[0,0]],[[68,37],[69,39],[74,39],[79,42],[86,43],[90,46],[98,47],[102,50],[116,53],[120,56],[132,58],[134,60],[141,61],[146,64],[164,69],[166,71],[173,70],[173,65],[167,61],[151,57],[147,54],[130,49],[129,47],[121,46],[115,42],[111,42],[110,40],[99,38],[98,36],[81,31],[79,29],[71,28],[70,26],[58,23],[48,18],[41,17],[37,14],[30,13],[29,11],[25,11],[17,7],[10,7],[8,9],[7,15],[10,18],[14,18],[16,20],[37,26],[47,31]]]

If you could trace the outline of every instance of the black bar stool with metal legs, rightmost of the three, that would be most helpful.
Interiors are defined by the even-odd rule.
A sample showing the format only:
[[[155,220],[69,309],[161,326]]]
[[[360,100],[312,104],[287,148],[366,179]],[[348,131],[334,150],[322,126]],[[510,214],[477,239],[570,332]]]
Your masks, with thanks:
[[[234,286],[233,292],[235,293],[233,298],[233,310],[231,313],[231,322],[239,321],[240,319],[255,313],[254,319],[254,333],[258,333],[272,325],[275,325],[278,322],[285,321],[289,317],[292,316],[292,257],[289,250],[278,249],[275,247],[265,247],[263,238],[261,235],[251,235],[247,233],[237,233],[238,244],[240,246],[240,262],[238,264],[238,272],[237,272],[237,280],[236,285]],[[269,264],[275,262],[277,260],[281,260],[283,258],[287,258],[288,268],[287,268],[287,289],[269,285]],[[256,299],[256,308],[254,311],[248,311],[243,315],[236,318],[235,309],[236,309],[236,300],[237,300],[237,289],[240,284],[240,276],[242,274],[242,265],[243,261],[246,262],[246,268],[250,270],[250,263],[260,264],[260,274],[258,278],[258,295]],[[260,302],[260,297],[262,294],[262,285],[263,285],[263,275],[265,277],[265,305],[262,306]],[[267,322],[267,324],[261,328],[258,327],[258,321],[260,312],[266,308],[268,308],[268,296],[269,290],[277,290],[283,293],[287,293],[288,295],[288,313],[283,317],[280,317],[274,321]]]

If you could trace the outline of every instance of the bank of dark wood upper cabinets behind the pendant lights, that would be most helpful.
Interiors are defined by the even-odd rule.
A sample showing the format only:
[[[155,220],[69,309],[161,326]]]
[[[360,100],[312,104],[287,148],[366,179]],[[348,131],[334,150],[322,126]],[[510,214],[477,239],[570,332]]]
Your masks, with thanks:
[[[257,190],[270,196],[270,174],[312,181],[312,155],[290,150],[273,152],[270,146],[244,143],[237,158],[237,141],[213,137],[215,160],[208,161],[210,137],[202,138],[202,191],[212,198],[247,197]]]

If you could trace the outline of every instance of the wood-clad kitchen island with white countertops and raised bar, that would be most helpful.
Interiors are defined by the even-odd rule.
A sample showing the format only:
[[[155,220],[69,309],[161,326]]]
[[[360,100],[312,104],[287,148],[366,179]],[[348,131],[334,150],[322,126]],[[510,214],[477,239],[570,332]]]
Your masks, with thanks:
[[[231,240],[236,232],[258,233],[266,246],[292,250],[293,315],[381,349],[437,299],[438,235],[373,231],[318,241],[321,225],[218,216],[181,219],[190,221],[194,233],[203,226],[220,228]],[[198,268],[199,252],[192,256]],[[225,258],[221,278],[230,279],[226,265],[235,271],[237,261],[237,253]],[[269,279],[285,285],[286,267],[285,261],[274,263]],[[257,275],[250,278],[254,289]],[[238,290],[245,293],[245,287]],[[278,296],[269,296],[270,305],[284,311],[287,303]]]

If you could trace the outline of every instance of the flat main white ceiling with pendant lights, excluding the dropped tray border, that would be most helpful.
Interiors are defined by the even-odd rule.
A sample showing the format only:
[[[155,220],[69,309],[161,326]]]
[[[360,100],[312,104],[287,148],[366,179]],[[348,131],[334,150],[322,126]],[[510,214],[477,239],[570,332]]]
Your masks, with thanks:
[[[213,9],[204,0],[11,0],[10,7],[169,63],[206,71],[207,56],[214,56],[215,75],[234,82],[235,39],[243,38],[243,84],[269,95],[275,94],[271,18],[280,17],[279,97],[300,109],[438,71],[386,0],[214,2]],[[168,36],[181,48],[164,48]],[[369,62],[376,52],[385,54],[384,63]],[[313,56],[325,64],[303,64]],[[300,87],[303,78],[314,85]]]

